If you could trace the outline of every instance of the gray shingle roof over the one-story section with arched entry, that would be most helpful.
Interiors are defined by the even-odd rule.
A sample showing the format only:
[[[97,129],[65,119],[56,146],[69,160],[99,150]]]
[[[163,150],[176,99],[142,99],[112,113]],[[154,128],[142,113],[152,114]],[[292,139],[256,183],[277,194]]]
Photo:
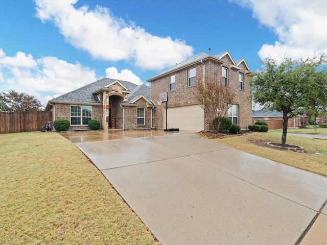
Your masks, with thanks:
[[[78,88],[71,92],[65,93],[59,97],[56,97],[55,99],[51,100],[51,102],[62,101],[62,102],[101,104],[101,102],[98,99],[98,96],[93,93],[101,88],[104,88],[104,86],[106,86],[114,81],[116,81],[116,79],[103,78],[96,82],[85,85],[84,87]],[[120,81],[119,80],[119,82],[121,84],[123,84],[126,88],[128,88],[128,90],[130,90],[130,91],[132,91],[136,87],[138,87],[136,84],[128,82],[128,81]],[[150,99],[151,99],[151,95],[150,95]]]

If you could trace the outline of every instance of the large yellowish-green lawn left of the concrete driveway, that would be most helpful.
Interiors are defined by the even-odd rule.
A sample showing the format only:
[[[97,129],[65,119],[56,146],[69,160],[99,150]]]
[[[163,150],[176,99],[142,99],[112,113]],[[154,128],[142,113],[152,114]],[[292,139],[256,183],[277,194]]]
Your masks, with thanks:
[[[57,133],[0,135],[0,244],[157,244],[88,159]]]

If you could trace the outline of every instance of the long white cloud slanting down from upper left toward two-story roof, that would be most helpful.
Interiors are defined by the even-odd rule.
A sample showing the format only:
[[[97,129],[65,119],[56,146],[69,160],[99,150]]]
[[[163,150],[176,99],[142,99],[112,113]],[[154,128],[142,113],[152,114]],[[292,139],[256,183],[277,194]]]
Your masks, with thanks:
[[[37,17],[53,21],[69,43],[96,59],[133,60],[142,69],[162,69],[193,54],[182,40],[153,36],[105,7],[75,9],[76,2],[35,0]]]

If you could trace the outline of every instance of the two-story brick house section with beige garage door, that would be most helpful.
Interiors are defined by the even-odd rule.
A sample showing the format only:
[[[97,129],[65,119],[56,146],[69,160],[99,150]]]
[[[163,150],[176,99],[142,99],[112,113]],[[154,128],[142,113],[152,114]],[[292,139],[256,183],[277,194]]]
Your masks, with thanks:
[[[152,101],[168,92],[167,124],[180,130],[211,130],[209,117],[196,100],[196,81],[207,76],[217,76],[218,81],[237,92],[235,102],[228,110],[234,124],[247,129],[252,124],[250,68],[244,59],[234,61],[228,52],[219,55],[200,53],[148,79],[151,82]],[[166,103],[156,105],[154,127],[166,127]]]

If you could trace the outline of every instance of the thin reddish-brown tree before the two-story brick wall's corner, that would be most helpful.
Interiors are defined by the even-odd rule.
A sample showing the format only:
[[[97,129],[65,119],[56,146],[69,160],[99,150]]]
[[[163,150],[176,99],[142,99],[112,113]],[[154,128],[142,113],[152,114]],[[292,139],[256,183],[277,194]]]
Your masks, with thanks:
[[[214,125],[214,118],[227,115],[229,106],[233,103],[236,96],[235,89],[221,82],[221,77],[217,74],[214,76],[206,76],[204,81],[196,82],[196,99],[202,103],[201,108],[212,124],[215,133],[219,132],[220,120]]]

